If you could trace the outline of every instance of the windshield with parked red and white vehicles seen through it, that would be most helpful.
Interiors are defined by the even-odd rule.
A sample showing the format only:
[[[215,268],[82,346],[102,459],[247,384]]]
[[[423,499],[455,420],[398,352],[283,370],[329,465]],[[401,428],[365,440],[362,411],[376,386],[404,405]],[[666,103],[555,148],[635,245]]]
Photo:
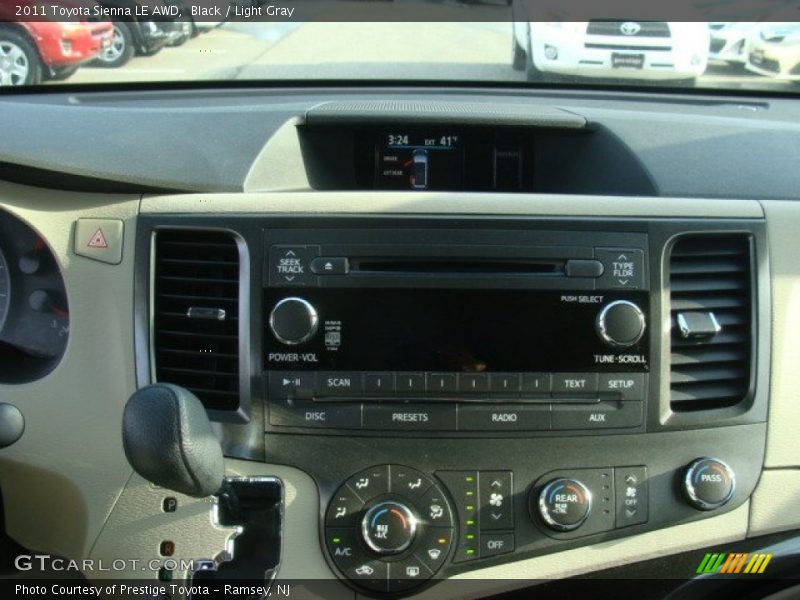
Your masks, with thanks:
[[[800,18],[789,20],[800,14],[796,7],[765,13],[696,0],[676,11],[675,18],[692,19],[662,21],[635,5],[597,15],[598,6],[3,1],[0,85],[291,80],[800,89]]]

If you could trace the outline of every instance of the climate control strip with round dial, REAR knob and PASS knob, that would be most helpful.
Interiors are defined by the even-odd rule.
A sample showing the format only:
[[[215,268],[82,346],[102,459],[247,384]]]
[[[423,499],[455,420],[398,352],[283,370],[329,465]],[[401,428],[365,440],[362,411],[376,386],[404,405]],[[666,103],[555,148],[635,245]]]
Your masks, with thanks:
[[[719,459],[698,458],[667,475],[673,501],[689,513],[721,508],[734,493],[734,472]],[[352,475],[331,497],[325,547],[356,589],[406,593],[473,561],[645,525],[650,476],[647,466],[631,465],[559,469],[519,482],[510,470],[429,475],[378,465]],[[520,505],[527,511],[516,510]]]

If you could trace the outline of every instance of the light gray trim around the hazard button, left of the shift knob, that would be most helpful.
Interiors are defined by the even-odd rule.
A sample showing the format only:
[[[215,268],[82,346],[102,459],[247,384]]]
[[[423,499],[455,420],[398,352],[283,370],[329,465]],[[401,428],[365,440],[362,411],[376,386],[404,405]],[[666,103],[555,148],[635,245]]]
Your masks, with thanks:
[[[136,389],[133,258],[137,197],[52,192],[0,184],[0,208],[36,230],[62,270],[70,336],[43,379],[0,384],[25,416],[25,433],[0,450],[8,534],[28,548],[88,554],[131,473],[122,450],[122,409]],[[119,265],[73,252],[76,219],[124,221]]]

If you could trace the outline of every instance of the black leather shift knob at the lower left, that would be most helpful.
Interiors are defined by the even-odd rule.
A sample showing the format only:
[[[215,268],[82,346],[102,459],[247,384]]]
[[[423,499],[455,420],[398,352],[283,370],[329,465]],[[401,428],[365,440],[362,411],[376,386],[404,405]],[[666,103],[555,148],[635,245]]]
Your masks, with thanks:
[[[125,456],[142,477],[202,498],[219,491],[225,476],[222,448],[200,400],[168,383],[140,389],[122,415]]]

